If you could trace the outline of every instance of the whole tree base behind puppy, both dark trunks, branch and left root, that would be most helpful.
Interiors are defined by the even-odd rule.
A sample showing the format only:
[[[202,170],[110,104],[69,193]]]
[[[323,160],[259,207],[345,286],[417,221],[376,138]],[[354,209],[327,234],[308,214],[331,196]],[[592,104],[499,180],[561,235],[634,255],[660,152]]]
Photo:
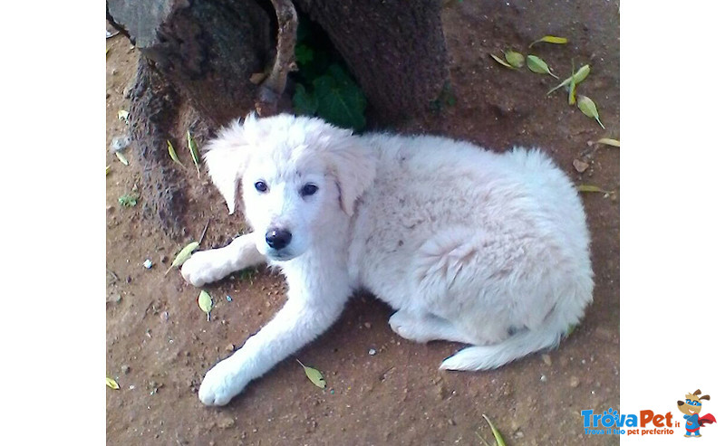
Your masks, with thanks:
[[[440,95],[448,64],[439,0],[297,5],[328,33],[366,96],[369,115],[394,123]],[[184,140],[189,108],[206,135],[255,106],[262,114],[290,109],[289,98],[283,107],[276,101],[294,68],[291,6],[290,0],[107,0],[109,22],[142,54],[131,136],[143,163],[147,211],[170,235],[182,233],[187,198],[185,180],[171,175],[166,140]],[[284,23],[275,31],[277,16]],[[263,71],[273,72],[257,86],[250,79]]]

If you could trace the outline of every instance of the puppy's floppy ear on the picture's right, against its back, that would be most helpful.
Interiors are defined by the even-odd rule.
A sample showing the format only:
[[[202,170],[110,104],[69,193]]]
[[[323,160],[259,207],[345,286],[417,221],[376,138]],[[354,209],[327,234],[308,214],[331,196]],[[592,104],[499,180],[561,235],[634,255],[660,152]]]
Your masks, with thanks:
[[[353,215],[355,202],[372,185],[377,157],[372,147],[354,137],[351,130],[335,128],[330,140],[329,159],[335,184],[340,192],[340,206],[345,214]]]

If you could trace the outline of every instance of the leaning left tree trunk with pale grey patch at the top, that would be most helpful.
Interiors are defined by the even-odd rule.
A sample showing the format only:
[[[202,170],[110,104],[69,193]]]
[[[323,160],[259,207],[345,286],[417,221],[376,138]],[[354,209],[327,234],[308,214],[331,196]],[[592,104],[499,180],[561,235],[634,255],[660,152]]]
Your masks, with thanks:
[[[272,50],[270,18],[254,0],[108,0],[107,15],[157,71],[217,125],[254,107],[250,76]]]

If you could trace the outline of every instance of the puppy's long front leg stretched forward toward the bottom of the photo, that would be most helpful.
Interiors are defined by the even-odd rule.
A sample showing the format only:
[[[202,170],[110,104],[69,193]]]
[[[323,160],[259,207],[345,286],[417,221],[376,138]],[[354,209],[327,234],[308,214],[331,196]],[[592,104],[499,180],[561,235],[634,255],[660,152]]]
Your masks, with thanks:
[[[346,296],[311,300],[290,297],[285,306],[234,355],[204,376],[198,397],[207,405],[224,405],[247,384],[321,335],[343,311]]]

